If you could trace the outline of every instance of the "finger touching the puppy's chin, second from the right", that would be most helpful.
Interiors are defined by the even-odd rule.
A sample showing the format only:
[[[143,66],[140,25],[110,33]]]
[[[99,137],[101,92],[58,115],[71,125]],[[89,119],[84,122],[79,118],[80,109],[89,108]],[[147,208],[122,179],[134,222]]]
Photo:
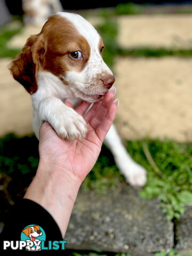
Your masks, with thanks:
[[[96,129],[97,126],[103,121],[108,111],[108,108],[113,102],[113,100],[114,100],[114,94],[111,92],[108,92],[105,98],[103,99],[97,113],[95,113],[95,115],[89,122],[90,125],[93,127],[93,129]]]

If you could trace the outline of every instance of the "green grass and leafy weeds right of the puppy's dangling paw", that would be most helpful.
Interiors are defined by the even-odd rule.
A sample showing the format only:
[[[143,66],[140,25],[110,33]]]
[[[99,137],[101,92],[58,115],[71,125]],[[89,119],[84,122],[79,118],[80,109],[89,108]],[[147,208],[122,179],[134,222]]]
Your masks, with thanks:
[[[146,139],[128,142],[127,150],[148,171],[140,196],[157,196],[167,219],[179,218],[185,204],[192,204],[192,143]],[[155,159],[155,166],[149,156]]]

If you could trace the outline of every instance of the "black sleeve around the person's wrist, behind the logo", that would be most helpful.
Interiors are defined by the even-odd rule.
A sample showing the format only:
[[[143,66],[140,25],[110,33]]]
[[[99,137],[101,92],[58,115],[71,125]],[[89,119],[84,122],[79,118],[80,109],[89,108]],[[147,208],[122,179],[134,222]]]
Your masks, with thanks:
[[[41,205],[22,198],[7,214],[5,226],[0,235],[0,251],[3,249],[3,241],[20,241],[22,230],[29,225],[41,227],[46,234],[46,241],[63,240],[61,231],[51,214]]]

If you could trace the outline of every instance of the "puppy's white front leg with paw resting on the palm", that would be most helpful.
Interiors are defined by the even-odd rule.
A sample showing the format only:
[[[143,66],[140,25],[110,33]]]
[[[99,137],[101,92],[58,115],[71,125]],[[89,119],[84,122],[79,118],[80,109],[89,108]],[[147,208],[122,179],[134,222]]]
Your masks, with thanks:
[[[87,131],[83,117],[54,97],[41,100],[38,111],[34,112],[33,126],[37,138],[43,121],[49,122],[61,139],[81,139]]]

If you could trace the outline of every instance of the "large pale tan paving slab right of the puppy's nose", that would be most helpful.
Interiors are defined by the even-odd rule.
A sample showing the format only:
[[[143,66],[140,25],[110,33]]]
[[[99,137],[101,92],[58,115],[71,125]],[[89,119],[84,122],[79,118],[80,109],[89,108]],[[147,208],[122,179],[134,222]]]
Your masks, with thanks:
[[[116,124],[125,139],[192,139],[192,59],[117,58]]]

